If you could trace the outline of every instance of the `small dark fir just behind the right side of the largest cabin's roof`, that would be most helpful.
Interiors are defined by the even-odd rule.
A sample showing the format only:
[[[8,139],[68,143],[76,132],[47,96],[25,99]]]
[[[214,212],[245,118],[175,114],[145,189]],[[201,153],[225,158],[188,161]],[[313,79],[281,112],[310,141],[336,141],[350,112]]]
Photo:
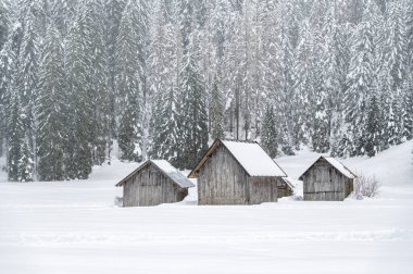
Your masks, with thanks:
[[[271,158],[278,155],[278,136],[274,108],[267,104],[265,108],[264,121],[261,129],[261,145]]]

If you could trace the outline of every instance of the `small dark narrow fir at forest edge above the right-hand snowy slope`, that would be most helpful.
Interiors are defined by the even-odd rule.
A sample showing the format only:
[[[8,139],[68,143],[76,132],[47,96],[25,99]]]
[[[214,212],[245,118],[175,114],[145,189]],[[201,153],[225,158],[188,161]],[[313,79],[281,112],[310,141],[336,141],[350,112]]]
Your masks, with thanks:
[[[380,145],[380,110],[376,96],[373,95],[368,102],[367,121],[365,127],[365,152],[368,157],[374,157]]]

